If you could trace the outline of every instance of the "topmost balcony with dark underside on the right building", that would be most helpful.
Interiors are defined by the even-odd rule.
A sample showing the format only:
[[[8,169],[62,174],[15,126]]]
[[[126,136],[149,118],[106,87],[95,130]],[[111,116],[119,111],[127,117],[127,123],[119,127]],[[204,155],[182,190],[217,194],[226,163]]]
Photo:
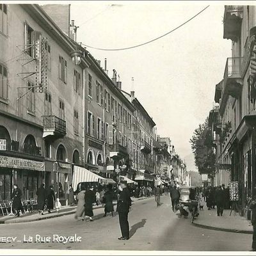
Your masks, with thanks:
[[[223,27],[223,38],[237,41],[241,34],[241,23],[243,19],[243,6],[225,5]]]

